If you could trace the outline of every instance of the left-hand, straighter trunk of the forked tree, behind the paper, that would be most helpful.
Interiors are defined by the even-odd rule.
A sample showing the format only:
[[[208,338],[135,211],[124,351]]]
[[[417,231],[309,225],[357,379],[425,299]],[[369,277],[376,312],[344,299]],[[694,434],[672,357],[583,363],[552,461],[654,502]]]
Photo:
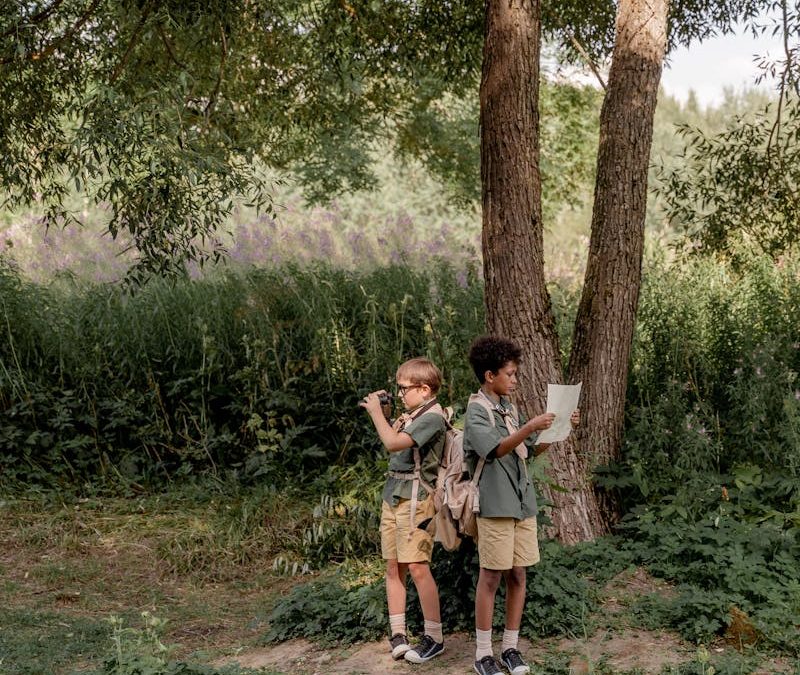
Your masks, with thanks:
[[[544,277],[539,174],[539,3],[488,0],[481,78],[483,264],[488,329],[524,350],[518,403],[544,411],[547,383],[562,381]],[[592,538],[603,519],[575,444],[554,446],[555,536]]]

